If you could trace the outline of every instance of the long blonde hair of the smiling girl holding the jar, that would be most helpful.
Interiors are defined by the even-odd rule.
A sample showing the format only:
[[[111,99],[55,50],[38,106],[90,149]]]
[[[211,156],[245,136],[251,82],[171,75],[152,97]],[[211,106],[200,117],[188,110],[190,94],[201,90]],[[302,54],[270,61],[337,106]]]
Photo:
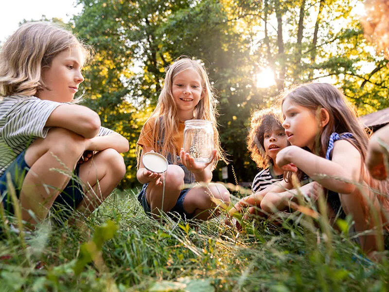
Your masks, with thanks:
[[[157,107],[153,111],[151,117],[147,120],[147,122],[154,123],[151,134],[151,137],[153,137],[154,140],[150,141],[150,144],[154,149],[156,149],[156,151],[165,157],[171,153],[173,162],[177,162],[176,155],[173,154],[179,153],[176,153],[176,146],[173,137],[178,132],[179,119],[177,105],[172,93],[173,79],[177,76],[177,74],[188,69],[193,69],[200,75],[203,91],[203,98],[195,106],[194,118],[212,122],[214,133],[213,144],[214,148],[217,150],[217,159],[227,162],[224,151],[220,146],[219,133],[216,123],[216,117],[218,115],[216,109],[216,97],[213,93],[208,74],[204,66],[200,63],[200,60],[190,59],[188,57],[178,58],[166,70],[166,77],[162,90],[159,94]],[[164,143],[159,145],[158,141],[162,139]],[[140,158],[139,152],[140,151],[138,151],[138,165]],[[216,163],[217,161],[214,162],[214,165],[216,165]]]

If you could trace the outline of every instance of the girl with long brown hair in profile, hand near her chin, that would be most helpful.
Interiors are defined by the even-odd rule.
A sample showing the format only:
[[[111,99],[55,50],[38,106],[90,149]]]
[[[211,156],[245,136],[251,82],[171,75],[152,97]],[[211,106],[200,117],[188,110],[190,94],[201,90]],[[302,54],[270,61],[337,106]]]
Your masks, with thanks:
[[[382,219],[386,221],[378,203],[383,185],[366,169],[369,136],[344,95],[326,83],[302,85],[284,95],[282,111],[292,146],[277,154],[277,165],[284,171],[301,171],[323,186],[330,213],[352,215],[362,249],[376,250],[377,237],[382,242]],[[293,189],[290,180],[283,187]],[[270,190],[261,208],[271,212],[288,207],[294,195],[283,187]]]

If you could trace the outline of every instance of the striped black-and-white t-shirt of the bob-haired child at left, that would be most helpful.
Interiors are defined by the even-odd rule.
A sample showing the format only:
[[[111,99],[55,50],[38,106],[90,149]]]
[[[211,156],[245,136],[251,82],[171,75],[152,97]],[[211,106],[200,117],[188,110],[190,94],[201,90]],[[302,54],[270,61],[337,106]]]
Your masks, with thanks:
[[[50,128],[46,122],[63,103],[35,96],[7,96],[0,101],[0,176],[12,161],[36,138],[45,138]],[[113,131],[100,128],[98,136]]]

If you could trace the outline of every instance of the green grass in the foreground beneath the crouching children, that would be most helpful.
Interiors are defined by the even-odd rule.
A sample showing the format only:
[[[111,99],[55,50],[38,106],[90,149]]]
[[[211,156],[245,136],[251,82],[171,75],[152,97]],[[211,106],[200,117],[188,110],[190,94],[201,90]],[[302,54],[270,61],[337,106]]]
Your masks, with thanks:
[[[1,291],[387,291],[388,262],[295,213],[276,227],[148,218],[115,192],[81,228],[38,226],[0,241]],[[3,224],[3,223],[2,223]],[[116,231],[116,232],[115,232]],[[326,241],[330,238],[330,241]]]

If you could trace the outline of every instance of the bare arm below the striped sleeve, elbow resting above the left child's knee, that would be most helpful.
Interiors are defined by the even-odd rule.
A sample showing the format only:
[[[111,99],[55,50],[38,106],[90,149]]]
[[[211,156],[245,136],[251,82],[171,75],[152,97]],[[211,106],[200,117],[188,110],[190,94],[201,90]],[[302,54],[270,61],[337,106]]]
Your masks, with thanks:
[[[46,127],[66,128],[85,138],[95,137],[100,126],[100,117],[96,112],[74,104],[58,106],[46,122]]]

